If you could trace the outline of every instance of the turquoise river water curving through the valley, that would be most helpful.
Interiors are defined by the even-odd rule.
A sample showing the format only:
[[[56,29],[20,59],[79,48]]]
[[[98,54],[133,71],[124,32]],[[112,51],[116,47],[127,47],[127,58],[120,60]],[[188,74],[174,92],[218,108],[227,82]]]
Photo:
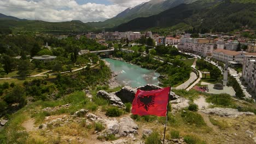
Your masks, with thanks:
[[[114,73],[118,74],[116,78],[120,85],[135,88],[147,84],[159,84],[159,73],[155,73],[154,70],[143,69],[138,65],[132,65],[110,58],[104,59],[110,63],[110,69],[114,71]]]

